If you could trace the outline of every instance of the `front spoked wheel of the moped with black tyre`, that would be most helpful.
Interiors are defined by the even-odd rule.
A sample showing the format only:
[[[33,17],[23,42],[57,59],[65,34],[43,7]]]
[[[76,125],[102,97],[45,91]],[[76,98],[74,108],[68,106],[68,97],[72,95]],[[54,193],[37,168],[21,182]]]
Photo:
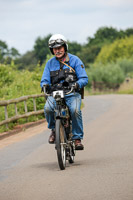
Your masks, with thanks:
[[[56,149],[58,163],[61,170],[64,170],[66,167],[66,144],[65,144],[65,130],[62,126],[61,120],[56,120]]]

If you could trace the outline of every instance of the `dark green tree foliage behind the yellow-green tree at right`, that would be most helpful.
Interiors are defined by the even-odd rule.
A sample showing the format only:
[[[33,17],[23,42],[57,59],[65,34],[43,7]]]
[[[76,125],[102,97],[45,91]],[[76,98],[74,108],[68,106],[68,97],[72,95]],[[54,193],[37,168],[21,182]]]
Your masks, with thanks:
[[[87,38],[88,42],[82,48],[80,55],[85,60],[85,65],[88,65],[88,62],[93,63],[95,61],[103,46],[108,46],[116,39],[125,38],[130,35],[133,35],[133,28],[126,29],[125,31],[118,31],[113,27],[99,28],[93,37]]]

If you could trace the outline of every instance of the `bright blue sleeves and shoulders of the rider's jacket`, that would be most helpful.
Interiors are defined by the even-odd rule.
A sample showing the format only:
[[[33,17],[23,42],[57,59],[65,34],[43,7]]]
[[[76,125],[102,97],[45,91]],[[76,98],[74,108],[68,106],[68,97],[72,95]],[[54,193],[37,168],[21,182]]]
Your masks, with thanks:
[[[88,83],[88,76],[85,71],[85,66],[83,62],[75,55],[70,53],[67,54],[69,58],[69,65],[75,70],[77,76],[77,83],[79,87],[82,88]],[[63,66],[63,69],[69,68],[66,65]],[[42,75],[40,86],[43,87],[44,84],[51,84],[50,80],[50,72],[56,71],[60,69],[60,62],[56,59],[56,57],[51,58],[44,68],[44,72]]]

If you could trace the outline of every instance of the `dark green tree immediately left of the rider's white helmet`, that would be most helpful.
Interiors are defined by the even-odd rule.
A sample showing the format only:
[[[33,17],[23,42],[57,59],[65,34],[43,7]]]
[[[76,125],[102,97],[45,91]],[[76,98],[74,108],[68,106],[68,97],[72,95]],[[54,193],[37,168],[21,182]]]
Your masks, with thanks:
[[[45,61],[47,54],[50,54],[48,47],[48,40],[50,37],[51,34],[49,34],[44,38],[38,37],[35,41],[34,45],[35,56],[38,59],[40,65],[42,65],[43,62]]]

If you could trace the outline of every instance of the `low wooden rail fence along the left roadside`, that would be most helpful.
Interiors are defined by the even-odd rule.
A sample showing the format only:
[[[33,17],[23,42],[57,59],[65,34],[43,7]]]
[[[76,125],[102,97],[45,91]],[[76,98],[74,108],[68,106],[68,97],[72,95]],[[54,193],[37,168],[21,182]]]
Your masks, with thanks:
[[[21,118],[27,118],[32,115],[39,115],[44,113],[44,110],[37,110],[36,108],[36,98],[38,97],[44,97],[44,94],[36,94],[36,95],[28,95],[28,96],[23,96],[17,99],[11,99],[11,100],[4,100],[0,101],[0,106],[5,107],[5,120],[0,122],[0,126],[6,124],[6,127],[8,128],[8,123],[13,122],[15,120],[21,119]],[[26,101],[30,98],[33,98],[33,106],[34,106],[34,111],[28,112],[27,108],[27,103]],[[17,103],[24,101],[24,109],[25,109],[25,114],[20,115],[18,113],[17,109]],[[9,104],[14,104],[14,109],[15,109],[15,116],[8,118],[8,111],[7,111],[7,106]]]

